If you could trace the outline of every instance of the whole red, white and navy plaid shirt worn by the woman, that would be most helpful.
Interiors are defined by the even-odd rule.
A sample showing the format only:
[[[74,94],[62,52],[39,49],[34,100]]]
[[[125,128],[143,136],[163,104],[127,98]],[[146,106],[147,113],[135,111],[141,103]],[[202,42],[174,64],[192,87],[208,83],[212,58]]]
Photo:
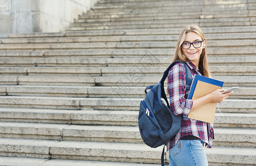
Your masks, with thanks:
[[[192,77],[194,77],[195,74],[201,75],[193,63],[187,61],[187,64],[190,67]],[[187,100],[185,98],[185,75],[185,66],[181,63],[177,63],[172,67],[167,76],[170,108],[175,115],[187,116],[193,105],[192,100]],[[183,117],[180,131],[166,144],[167,151],[174,147],[180,138],[189,135],[200,138],[207,144],[207,148],[211,148],[214,139],[213,124]]]

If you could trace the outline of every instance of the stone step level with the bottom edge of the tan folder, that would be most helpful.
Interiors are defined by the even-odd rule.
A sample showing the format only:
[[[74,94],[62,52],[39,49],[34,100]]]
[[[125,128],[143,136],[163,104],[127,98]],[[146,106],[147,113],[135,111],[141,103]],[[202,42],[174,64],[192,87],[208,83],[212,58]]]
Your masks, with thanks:
[[[217,110],[218,111],[218,110]],[[2,122],[137,126],[138,111],[0,108]],[[214,127],[256,128],[255,113],[218,113]]]

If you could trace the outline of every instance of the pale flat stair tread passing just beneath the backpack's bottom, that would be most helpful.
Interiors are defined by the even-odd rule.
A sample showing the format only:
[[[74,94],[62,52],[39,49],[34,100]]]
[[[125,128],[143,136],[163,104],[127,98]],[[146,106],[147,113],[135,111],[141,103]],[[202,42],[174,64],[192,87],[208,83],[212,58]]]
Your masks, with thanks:
[[[81,149],[115,149],[125,151],[150,151],[160,152],[162,147],[150,148],[144,143],[119,143],[119,142],[81,142],[81,141],[51,141],[41,139],[17,139],[17,138],[0,138],[1,144],[21,145],[21,146],[44,146],[54,148],[81,148]],[[248,153],[250,152],[250,153]],[[65,152],[64,152],[65,153]],[[159,154],[160,154],[159,153]],[[207,154],[232,154],[232,155],[256,155],[255,148],[240,147],[213,147],[207,149]]]

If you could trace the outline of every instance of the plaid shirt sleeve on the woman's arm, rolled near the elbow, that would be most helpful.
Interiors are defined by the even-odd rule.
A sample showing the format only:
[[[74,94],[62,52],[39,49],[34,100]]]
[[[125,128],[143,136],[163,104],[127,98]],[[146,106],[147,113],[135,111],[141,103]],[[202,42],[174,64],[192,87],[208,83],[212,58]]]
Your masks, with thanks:
[[[170,108],[177,115],[187,116],[193,105],[185,98],[186,69],[181,63],[175,64],[168,72],[167,85],[170,94]]]

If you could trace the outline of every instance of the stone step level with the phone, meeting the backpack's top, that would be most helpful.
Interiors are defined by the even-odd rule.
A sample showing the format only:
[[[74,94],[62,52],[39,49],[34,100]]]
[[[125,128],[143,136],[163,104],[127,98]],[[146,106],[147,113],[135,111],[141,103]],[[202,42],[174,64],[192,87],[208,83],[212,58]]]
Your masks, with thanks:
[[[167,87],[167,86],[166,86]],[[229,87],[223,87],[229,89]],[[121,97],[143,98],[145,86],[130,87],[94,87],[94,86],[0,86],[2,96],[46,96],[46,97]],[[256,87],[240,87],[229,98],[256,99]],[[168,97],[168,94],[167,94]]]

